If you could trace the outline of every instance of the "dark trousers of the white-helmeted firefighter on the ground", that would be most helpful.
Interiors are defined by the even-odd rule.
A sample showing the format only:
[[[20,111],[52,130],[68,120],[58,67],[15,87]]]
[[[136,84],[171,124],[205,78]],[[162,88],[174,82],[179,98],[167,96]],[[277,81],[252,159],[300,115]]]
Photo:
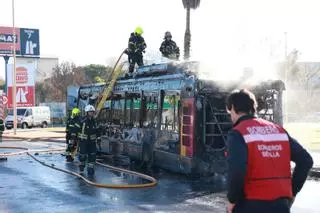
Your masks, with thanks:
[[[79,170],[82,172],[88,160],[88,169],[93,171],[94,163],[96,161],[97,147],[96,142],[90,140],[81,140],[79,142]],[[89,172],[89,170],[88,170]]]

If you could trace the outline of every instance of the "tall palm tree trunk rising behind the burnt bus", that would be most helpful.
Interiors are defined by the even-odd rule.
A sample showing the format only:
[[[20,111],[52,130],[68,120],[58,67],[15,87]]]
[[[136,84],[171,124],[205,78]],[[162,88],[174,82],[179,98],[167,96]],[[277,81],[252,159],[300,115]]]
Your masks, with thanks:
[[[184,34],[184,59],[188,60],[190,57],[190,9],[197,9],[200,5],[200,0],[182,0],[183,7],[187,10],[186,32]]]

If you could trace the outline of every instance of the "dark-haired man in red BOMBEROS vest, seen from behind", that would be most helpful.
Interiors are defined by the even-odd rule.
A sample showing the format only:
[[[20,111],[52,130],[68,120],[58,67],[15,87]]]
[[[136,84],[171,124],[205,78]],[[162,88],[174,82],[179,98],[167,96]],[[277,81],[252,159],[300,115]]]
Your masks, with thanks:
[[[228,213],[289,213],[313,159],[286,130],[256,117],[248,90],[227,98],[233,130],[228,135]],[[295,162],[291,177],[290,161]]]

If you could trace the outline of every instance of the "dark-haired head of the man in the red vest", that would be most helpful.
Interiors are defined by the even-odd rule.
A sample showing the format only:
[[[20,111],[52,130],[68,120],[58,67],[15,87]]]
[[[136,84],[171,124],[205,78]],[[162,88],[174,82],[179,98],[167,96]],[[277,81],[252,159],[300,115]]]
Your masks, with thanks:
[[[241,116],[254,115],[257,111],[256,98],[247,89],[233,91],[226,102],[233,123],[237,122]]]

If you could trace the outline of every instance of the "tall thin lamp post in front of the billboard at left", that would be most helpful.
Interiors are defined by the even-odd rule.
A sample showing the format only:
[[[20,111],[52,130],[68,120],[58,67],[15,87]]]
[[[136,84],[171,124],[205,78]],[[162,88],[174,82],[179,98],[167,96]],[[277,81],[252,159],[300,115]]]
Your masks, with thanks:
[[[17,134],[17,106],[16,106],[16,29],[14,23],[14,0],[12,0],[12,29],[13,29],[13,67],[12,67],[12,103],[13,103],[13,134]]]

